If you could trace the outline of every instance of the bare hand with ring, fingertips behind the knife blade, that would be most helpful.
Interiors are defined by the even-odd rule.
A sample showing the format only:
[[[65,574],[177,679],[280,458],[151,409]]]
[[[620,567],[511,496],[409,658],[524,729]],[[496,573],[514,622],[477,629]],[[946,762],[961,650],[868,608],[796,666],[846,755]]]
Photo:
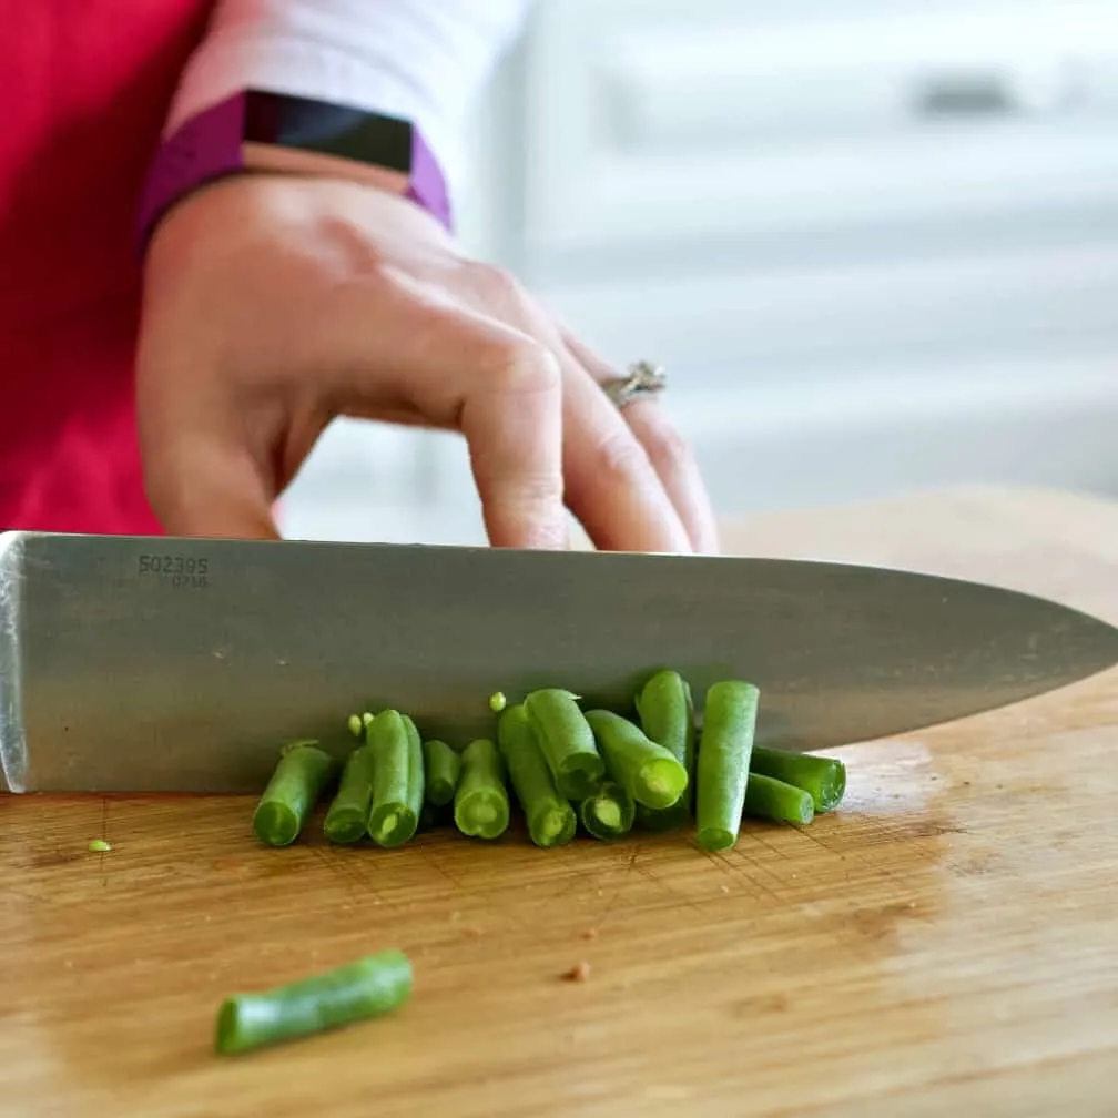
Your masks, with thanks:
[[[246,176],[152,240],[136,371],[149,499],[181,536],[276,538],[275,498],[340,415],[461,430],[495,547],[717,550],[688,447],[653,401],[413,202]]]

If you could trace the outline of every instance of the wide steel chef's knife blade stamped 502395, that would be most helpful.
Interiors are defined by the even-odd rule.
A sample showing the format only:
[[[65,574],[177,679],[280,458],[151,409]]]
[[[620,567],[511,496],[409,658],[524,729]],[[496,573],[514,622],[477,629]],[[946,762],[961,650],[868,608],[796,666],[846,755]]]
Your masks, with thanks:
[[[12,792],[258,792],[278,746],[396,707],[492,736],[489,695],[631,711],[674,667],[761,690],[759,742],[819,749],[1026,699],[1118,663],[1060,604],[858,565],[424,544],[0,536]]]

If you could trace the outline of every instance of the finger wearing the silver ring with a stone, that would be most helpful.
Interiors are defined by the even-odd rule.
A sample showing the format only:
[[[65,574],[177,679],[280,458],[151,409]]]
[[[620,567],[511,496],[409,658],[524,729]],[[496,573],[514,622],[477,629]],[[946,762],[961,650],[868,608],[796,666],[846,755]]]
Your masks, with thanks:
[[[600,383],[617,376],[609,364],[572,334],[565,331],[563,340],[595,382]],[[598,394],[605,397],[600,389]],[[714,512],[690,446],[669,421],[663,409],[652,400],[629,404],[619,415],[644,448],[686,531],[691,547],[700,553],[717,553],[719,541]]]

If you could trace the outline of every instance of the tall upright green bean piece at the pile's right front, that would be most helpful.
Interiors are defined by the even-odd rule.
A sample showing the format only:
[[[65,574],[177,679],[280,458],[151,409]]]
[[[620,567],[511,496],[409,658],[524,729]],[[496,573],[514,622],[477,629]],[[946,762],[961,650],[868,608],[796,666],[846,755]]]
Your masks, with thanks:
[[[757,688],[737,680],[707,692],[695,780],[698,841],[704,850],[728,850],[738,841],[758,700]]]

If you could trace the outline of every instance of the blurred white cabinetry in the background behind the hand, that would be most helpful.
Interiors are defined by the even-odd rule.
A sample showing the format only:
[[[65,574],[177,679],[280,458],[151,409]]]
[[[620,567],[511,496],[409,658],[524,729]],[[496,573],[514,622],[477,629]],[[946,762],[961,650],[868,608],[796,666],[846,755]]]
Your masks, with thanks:
[[[723,514],[1118,495],[1118,0],[540,0],[467,245],[665,406]],[[449,436],[339,423],[288,534],[481,542]]]

